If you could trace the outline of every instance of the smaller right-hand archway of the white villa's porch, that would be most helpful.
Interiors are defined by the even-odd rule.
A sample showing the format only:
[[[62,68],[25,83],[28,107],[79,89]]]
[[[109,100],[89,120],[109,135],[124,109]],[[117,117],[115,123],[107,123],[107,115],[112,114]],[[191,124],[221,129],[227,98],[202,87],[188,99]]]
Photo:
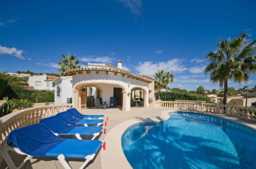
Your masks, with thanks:
[[[131,107],[148,107],[147,91],[142,87],[133,87],[131,89],[130,103]]]

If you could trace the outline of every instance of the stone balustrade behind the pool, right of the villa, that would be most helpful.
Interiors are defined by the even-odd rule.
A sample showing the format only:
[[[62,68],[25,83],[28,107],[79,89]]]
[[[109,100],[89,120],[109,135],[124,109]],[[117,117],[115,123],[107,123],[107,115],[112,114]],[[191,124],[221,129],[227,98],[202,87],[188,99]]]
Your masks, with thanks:
[[[250,107],[182,101],[155,101],[155,106],[227,114],[256,121],[256,108]]]

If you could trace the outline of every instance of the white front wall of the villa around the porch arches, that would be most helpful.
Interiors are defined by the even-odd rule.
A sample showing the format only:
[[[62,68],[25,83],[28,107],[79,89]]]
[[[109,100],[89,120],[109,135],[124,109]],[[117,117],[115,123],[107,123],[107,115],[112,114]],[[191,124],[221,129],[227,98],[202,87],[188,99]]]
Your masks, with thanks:
[[[128,82],[130,82],[129,87]],[[108,105],[110,102],[110,97],[113,96],[113,88],[123,87],[123,92],[126,92],[123,95],[123,100],[126,100],[126,102],[123,101],[123,105],[125,104],[125,108],[127,108],[127,110],[125,111],[130,110],[130,96],[127,96],[127,93],[131,92],[131,89],[134,87],[140,87],[144,89],[147,93],[145,103],[146,107],[148,107],[148,83],[132,78],[127,78],[127,75],[122,76],[122,74],[120,73],[115,75],[113,72],[108,72],[108,74],[106,74],[106,72],[104,71],[99,71],[99,73],[96,73],[95,71],[90,71],[90,73],[86,73],[85,71],[83,71],[82,74],[73,75],[73,91],[75,90],[74,88],[79,84],[91,84],[101,87],[103,90],[103,101],[107,101]],[[74,99],[75,98],[73,98],[73,100]]]

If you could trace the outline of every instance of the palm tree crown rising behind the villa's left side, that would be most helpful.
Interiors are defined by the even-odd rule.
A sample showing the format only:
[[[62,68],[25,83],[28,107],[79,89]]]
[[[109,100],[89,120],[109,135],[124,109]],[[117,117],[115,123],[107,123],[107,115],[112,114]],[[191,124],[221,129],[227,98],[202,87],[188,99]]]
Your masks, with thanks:
[[[66,57],[63,53],[61,53],[61,55],[63,56],[63,58],[60,59],[60,62],[58,62],[58,66],[60,66],[58,72],[61,72],[62,75],[64,75],[63,72],[69,69],[75,69],[80,67],[77,65],[79,61],[75,59],[75,55],[70,53],[68,53],[68,57]]]

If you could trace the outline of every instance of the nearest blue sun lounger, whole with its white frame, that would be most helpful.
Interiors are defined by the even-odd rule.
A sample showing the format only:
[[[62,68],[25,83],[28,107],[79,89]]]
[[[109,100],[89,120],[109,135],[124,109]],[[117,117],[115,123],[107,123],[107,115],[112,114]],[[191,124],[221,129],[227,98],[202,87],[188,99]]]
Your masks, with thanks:
[[[84,168],[100,150],[100,140],[76,140],[55,136],[43,123],[36,123],[24,128],[13,130],[7,137],[7,144],[2,153],[9,168],[21,168],[33,157],[57,157],[64,168],[71,169],[65,158],[85,158],[80,168]],[[27,155],[18,167],[12,161],[8,151]]]

